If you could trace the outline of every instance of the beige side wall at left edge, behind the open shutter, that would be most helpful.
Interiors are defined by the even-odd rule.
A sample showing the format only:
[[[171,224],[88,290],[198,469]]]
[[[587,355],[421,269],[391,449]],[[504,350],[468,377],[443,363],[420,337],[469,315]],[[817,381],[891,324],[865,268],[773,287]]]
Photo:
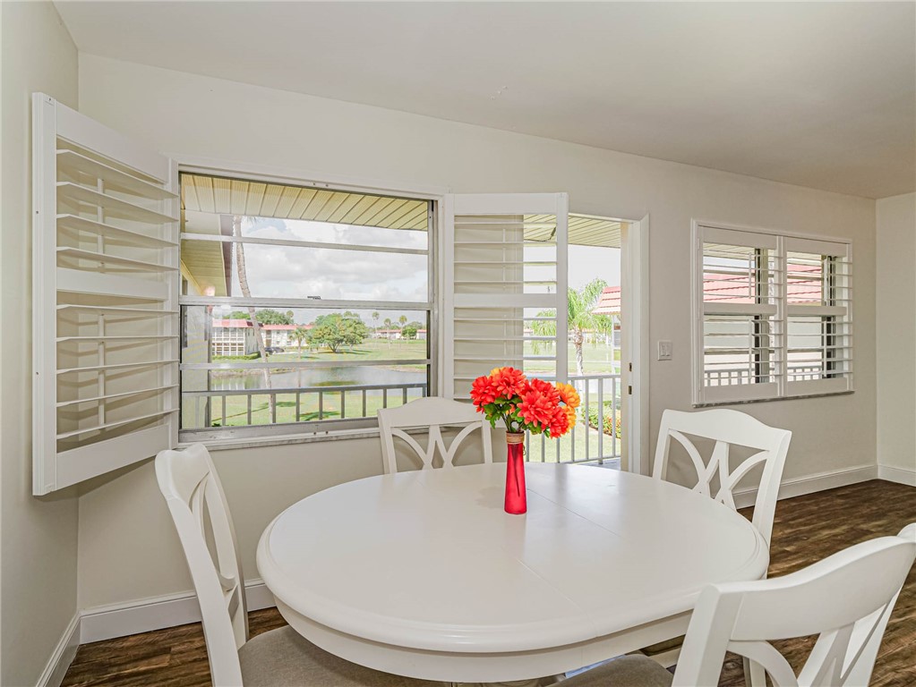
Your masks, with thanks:
[[[77,105],[77,52],[50,3],[2,3],[0,684],[34,685],[76,612],[73,493],[31,495],[31,92]]]

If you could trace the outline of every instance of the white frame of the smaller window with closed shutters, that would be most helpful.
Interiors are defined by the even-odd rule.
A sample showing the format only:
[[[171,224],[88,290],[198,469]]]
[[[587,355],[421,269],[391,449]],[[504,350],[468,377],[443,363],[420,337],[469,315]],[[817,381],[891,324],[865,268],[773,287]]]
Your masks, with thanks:
[[[780,270],[780,280],[778,285],[778,294],[775,298],[775,312],[773,323],[777,329],[771,332],[770,337],[775,337],[776,342],[772,349],[776,354],[775,381],[761,384],[735,384],[726,386],[707,386],[704,384],[705,376],[705,343],[704,343],[704,316],[707,315],[707,306],[703,300],[703,243],[704,236],[708,237],[710,233],[717,235],[719,240],[727,243],[727,236],[731,234],[734,239],[748,238],[748,235],[757,235],[761,242],[774,242],[774,254],[776,263]],[[816,243],[815,243],[816,242]],[[735,241],[735,245],[748,245],[741,241]],[[793,231],[778,231],[763,229],[758,227],[747,227],[743,225],[727,224],[717,221],[692,220],[691,222],[691,367],[692,367],[692,406],[706,407],[714,405],[728,405],[735,403],[759,403],[767,401],[783,401],[793,398],[811,398],[817,396],[836,395],[855,392],[854,385],[854,363],[855,353],[852,328],[854,327],[853,302],[852,294],[853,279],[852,269],[854,263],[853,242],[850,239],[839,238],[835,236],[825,236],[809,233],[800,233]],[[836,331],[837,322],[834,321],[828,329],[829,337],[848,338],[848,346],[845,350],[848,352],[847,370],[840,370],[817,380],[790,381],[788,374],[789,352],[791,350],[789,341],[789,320],[793,315],[799,313],[791,312],[793,307],[789,303],[788,294],[788,254],[789,252],[812,252],[814,254],[829,254],[818,251],[817,249],[833,248],[835,255],[845,252],[845,263],[848,265],[849,274],[844,274],[846,283],[843,286],[836,287],[835,262],[829,276],[831,291],[834,288],[845,289],[848,296],[848,302],[845,303],[845,313],[843,313],[843,326],[846,327],[844,334],[838,334]],[[759,300],[760,292],[757,291]],[[811,306],[798,306],[811,307]],[[834,308],[835,306],[821,306],[822,309]],[[750,310],[750,307],[741,308],[742,311]],[[812,313],[811,315],[817,315]],[[805,313],[809,315],[809,313]],[[827,342],[825,345],[832,345]],[[835,351],[834,351],[835,352]],[[829,356],[830,354],[825,354]],[[823,359],[824,370],[834,365],[829,357]],[[826,371],[825,371],[826,373]],[[759,388],[755,388],[759,387]]]

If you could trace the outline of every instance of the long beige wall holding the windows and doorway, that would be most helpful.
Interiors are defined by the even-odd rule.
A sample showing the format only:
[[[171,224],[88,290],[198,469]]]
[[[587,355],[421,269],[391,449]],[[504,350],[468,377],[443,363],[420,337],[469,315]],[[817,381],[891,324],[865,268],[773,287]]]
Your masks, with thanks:
[[[650,432],[665,408],[690,407],[692,218],[852,239],[856,393],[742,410],[794,432],[786,478],[875,464],[875,203],[522,134],[81,56],[81,109],[163,152],[276,166],[302,176],[377,179],[456,192],[568,191],[576,212],[651,215],[649,332],[671,362],[650,367]],[[256,576],[257,537],[280,510],[334,482],[381,470],[376,441],[214,455]],[[80,502],[80,604],[189,589],[150,467]]]

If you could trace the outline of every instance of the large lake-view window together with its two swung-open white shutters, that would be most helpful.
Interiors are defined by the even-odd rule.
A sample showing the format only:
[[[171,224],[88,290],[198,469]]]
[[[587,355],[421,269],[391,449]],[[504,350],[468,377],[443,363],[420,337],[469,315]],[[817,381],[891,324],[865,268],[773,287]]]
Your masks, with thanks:
[[[36,495],[180,439],[375,427],[379,407],[523,364],[533,308],[563,338],[565,194],[434,196],[437,276],[430,198],[180,176],[32,103]]]

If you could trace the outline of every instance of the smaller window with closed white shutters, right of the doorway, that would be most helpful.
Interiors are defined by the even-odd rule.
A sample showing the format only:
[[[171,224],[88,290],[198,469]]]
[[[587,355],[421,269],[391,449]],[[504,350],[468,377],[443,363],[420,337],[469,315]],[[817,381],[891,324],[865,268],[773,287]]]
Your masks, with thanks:
[[[852,391],[845,242],[697,224],[693,403]]]

